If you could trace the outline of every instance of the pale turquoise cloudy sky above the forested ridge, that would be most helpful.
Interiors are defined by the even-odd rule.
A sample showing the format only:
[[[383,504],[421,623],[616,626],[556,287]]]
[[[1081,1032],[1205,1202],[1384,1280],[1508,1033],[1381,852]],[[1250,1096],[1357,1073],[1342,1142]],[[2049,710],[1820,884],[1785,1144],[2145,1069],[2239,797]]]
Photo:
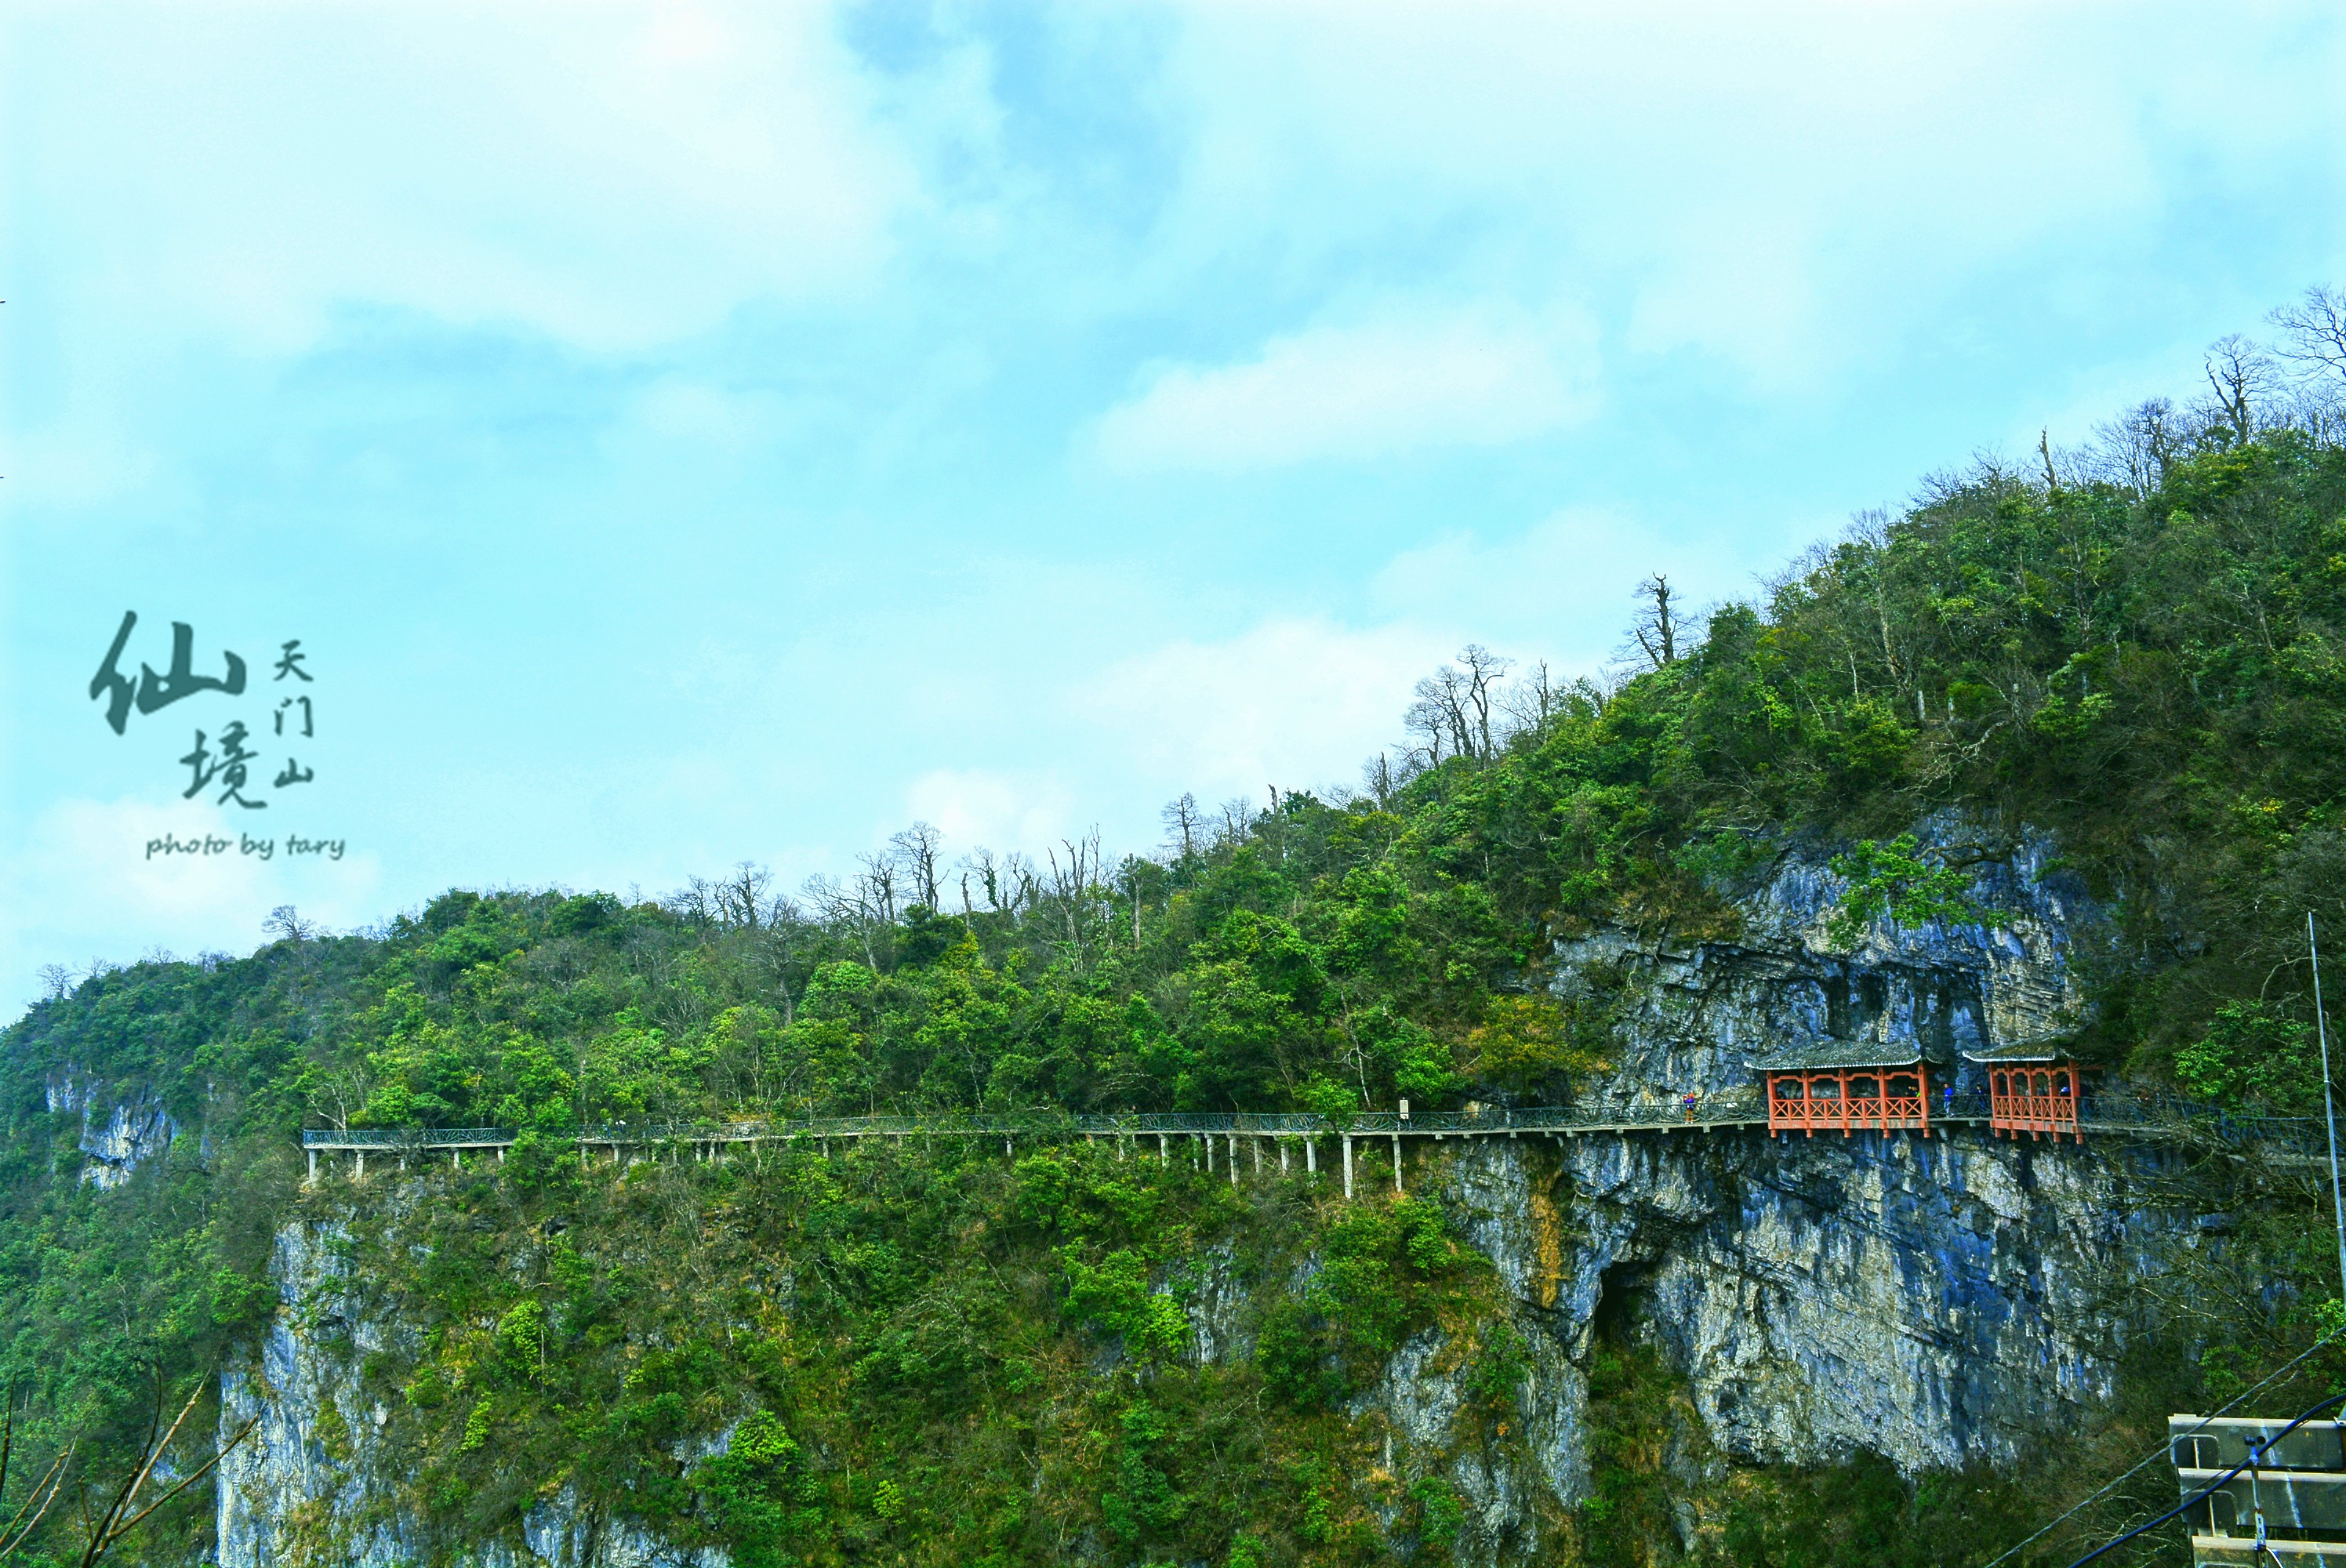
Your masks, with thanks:
[[[0,1007],[1325,786],[2346,282],[2304,7],[0,21]],[[251,664],[103,723],[169,624]],[[183,798],[303,638],[314,779]],[[260,763],[282,763],[265,735]],[[286,746],[291,749],[291,746]],[[256,765],[260,765],[256,763]],[[263,779],[267,782],[267,779]],[[164,833],[340,861],[148,857]]]

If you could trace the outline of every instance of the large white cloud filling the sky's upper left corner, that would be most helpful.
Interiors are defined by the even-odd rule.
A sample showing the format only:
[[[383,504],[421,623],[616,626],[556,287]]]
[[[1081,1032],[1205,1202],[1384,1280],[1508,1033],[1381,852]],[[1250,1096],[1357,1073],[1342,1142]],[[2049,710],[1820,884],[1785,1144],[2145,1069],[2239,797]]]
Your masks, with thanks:
[[[164,340],[289,352],[373,305],[662,343],[746,298],[868,289],[915,183],[823,7],[160,7],[16,33],[9,207],[38,228],[12,249],[49,258],[47,310]]]

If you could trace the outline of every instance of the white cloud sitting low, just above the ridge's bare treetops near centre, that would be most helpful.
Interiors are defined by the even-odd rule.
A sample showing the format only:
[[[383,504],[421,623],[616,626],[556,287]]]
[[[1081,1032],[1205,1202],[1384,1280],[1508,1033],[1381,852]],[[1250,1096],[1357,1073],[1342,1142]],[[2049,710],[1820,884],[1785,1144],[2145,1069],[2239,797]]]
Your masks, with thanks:
[[[1220,643],[1121,660],[1074,697],[1166,793],[1248,796],[1349,782],[1401,732],[1410,685],[1452,653],[1412,624],[1269,620]]]

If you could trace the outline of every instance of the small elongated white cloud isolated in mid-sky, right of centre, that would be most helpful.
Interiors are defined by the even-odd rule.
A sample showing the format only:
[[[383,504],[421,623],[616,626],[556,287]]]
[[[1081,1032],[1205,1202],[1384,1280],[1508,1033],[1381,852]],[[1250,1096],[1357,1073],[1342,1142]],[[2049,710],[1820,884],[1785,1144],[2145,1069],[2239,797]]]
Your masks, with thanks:
[[[1506,446],[1593,408],[1595,326],[1579,312],[1394,312],[1272,338],[1239,364],[1164,369],[1093,439],[1121,472],[1239,472]]]

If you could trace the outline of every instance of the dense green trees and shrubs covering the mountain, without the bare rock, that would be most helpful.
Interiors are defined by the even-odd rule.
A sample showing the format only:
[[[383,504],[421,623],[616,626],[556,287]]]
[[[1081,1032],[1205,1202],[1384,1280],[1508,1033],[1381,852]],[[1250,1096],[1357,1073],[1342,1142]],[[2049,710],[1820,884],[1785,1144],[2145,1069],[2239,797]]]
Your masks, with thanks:
[[[568,1134],[1565,1103],[1607,1063],[1609,1000],[1548,993],[1560,937],[1731,939],[1734,894],[1792,843],[1839,857],[1853,915],[1926,920],[2032,831],[2109,911],[2079,955],[2079,1049],[2306,1110],[2306,913],[2346,932],[2339,305],[2316,291],[2271,347],[2217,345],[2198,406],[1928,479],[1755,601],[1689,622],[1649,582],[1609,678],[1469,648],[1358,789],[1185,798],[1152,854],[995,857],[915,824],[795,897],[755,864],[638,904],[448,892],[380,930],[282,911],[246,958],[61,974],[0,1035],[0,1516],[68,1444],[54,1474],[103,1507],[157,1399],[169,1420],[277,1310],[279,1228],[333,1211],[387,1310],[429,1324],[366,1376],[443,1552],[575,1483],[737,1563],[1049,1561],[1079,1537],[1112,1561],[1375,1561],[1389,1537],[1440,1561],[1457,1502],[1438,1481],[1394,1481],[1382,1523],[1337,1486],[1347,1397],[1494,1289],[1433,1202],[1330,1207],[1079,1143],[615,1183],[561,1157]],[[1954,850],[1907,836],[1933,815],[1959,824]],[[169,1108],[169,1157],[80,1181],[68,1075],[96,1103]],[[467,1124],[528,1136],[448,1174],[446,1204],[354,1218],[300,1188],[303,1127]],[[1239,1268],[1246,1249],[1321,1258],[1243,1366],[1185,1364],[1173,1298],[1150,1289],[1215,1237],[1239,1237]],[[2257,1340],[2278,1361],[2337,1296],[2323,1216],[2276,1211],[2243,1246],[2299,1282]],[[1483,1336],[1471,1373],[1490,1441],[1511,1354]],[[1668,1401],[1635,1345],[1605,1352],[1595,1390],[1593,1441],[1619,1455]],[[673,1458],[718,1430],[723,1448]],[[1788,1533],[1816,1476],[1748,1476],[1731,1561],[1975,1561],[2062,1502],[1863,1460],[1839,1483],[1830,1526]],[[113,1556],[202,1554],[204,1498]],[[1670,1561],[1605,1498],[1562,1526],[1586,1561]],[[80,1561],[77,1519],[59,1502],[16,1561]]]

